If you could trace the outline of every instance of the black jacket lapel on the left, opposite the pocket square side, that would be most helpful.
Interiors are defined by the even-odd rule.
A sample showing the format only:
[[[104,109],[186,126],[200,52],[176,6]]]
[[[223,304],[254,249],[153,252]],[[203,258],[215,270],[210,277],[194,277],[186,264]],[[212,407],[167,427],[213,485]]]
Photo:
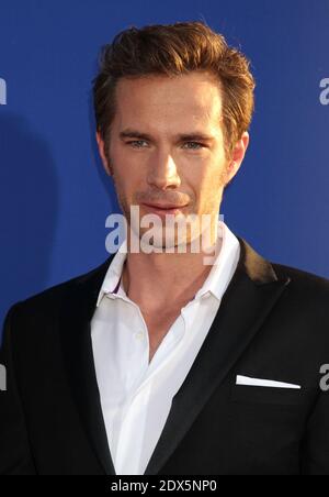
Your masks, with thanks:
[[[97,383],[90,320],[106,269],[114,255],[92,273],[68,287],[64,299],[59,329],[64,358],[72,398],[89,442],[107,475],[115,475],[104,426]]]

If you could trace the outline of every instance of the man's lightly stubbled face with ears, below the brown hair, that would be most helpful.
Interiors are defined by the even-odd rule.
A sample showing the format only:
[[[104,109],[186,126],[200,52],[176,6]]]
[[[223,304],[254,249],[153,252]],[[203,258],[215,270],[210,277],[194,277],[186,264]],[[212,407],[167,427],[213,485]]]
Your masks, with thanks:
[[[179,216],[196,214],[201,222],[209,214],[217,223],[224,187],[239,161],[229,169],[222,96],[211,75],[121,79],[105,153],[99,135],[98,142],[129,225],[131,206],[139,206],[140,218],[154,212],[144,203],[185,206]]]

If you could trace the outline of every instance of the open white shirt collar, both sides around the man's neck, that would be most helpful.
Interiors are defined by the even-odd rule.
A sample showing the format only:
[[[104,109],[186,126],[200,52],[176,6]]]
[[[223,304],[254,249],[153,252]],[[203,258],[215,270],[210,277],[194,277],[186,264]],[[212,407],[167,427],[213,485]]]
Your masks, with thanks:
[[[211,292],[219,301],[236,270],[240,256],[240,244],[235,234],[229,230],[224,221],[218,220],[217,244],[213,267],[204,281],[202,288],[195,294],[194,299],[201,298],[203,295]],[[115,253],[104,281],[99,292],[97,307],[104,295],[113,298],[121,291],[121,277],[123,266],[127,257],[127,240],[125,240],[118,251]],[[209,256],[208,256],[209,257]],[[213,262],[213,261],[212,261]]]

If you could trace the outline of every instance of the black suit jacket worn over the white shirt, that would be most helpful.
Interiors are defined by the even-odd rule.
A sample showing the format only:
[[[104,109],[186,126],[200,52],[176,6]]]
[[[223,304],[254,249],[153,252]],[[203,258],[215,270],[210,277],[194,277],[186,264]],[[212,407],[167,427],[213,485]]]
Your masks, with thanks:
[[[329,280],[241,255],[145,475],[329,474]],[[114,475],[90,320],[113,255],[13,306],[2,358],[0,474]],[[236,376],[300,390],[236,385]]]

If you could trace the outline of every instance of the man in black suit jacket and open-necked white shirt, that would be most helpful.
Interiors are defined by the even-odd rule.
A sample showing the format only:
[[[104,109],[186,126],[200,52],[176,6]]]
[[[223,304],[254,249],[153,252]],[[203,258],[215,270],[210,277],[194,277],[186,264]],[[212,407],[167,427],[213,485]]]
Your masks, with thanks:
[[[200,22],[104,47],[97,141],[129,229],[100,267],[10,309],[0,473],[329,474],[329,281],[218,220],[253,89],[247,58]],[[148,216],[190,231],[161,224],[147,243]]]

